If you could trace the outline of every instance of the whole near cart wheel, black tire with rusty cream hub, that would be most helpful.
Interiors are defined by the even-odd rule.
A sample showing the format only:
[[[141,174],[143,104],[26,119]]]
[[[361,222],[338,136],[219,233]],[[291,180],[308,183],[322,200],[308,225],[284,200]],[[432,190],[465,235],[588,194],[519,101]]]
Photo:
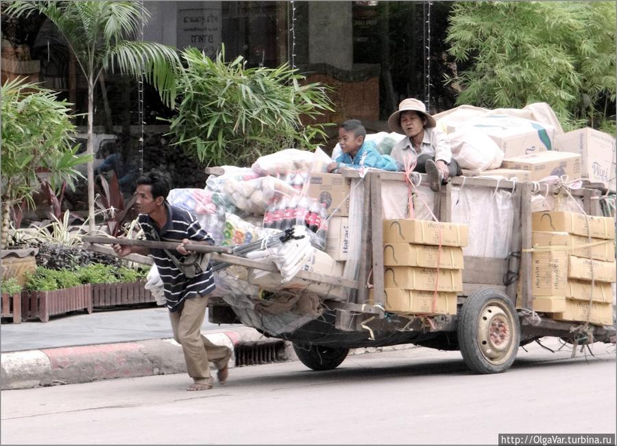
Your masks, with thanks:
[[[516,358],[520,326],[510,298],[485,288],[469,296],[457,327],[463,360],[475,373],[507,371]]]

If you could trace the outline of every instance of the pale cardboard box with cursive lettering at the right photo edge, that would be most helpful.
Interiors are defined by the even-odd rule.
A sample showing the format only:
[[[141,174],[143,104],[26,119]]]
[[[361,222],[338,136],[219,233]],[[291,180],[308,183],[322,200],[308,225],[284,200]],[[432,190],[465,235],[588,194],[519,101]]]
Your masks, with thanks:
[[[615,138],[593,128],[581,128],[555,136],[555,150],[573,152],[583,157],[583,178],[604,183],[615,190]]]

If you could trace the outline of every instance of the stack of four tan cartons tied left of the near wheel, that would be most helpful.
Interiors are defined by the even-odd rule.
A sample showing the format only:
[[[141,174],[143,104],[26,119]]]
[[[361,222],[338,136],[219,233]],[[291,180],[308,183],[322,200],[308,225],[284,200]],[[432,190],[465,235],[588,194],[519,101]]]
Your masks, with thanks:
[[[457,293],[463,290],[462,246],[468,244],[468,227],[428,220],[384,220],[383,239],[386,311],[456,314]]]

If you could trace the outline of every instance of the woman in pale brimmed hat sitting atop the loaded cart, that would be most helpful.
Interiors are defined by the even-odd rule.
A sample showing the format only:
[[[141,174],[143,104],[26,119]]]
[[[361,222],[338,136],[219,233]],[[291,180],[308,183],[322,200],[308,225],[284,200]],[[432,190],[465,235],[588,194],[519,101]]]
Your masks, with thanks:
[[[390,156],[400,166],[415,161],[413,170],[428,174],[433,191],[438,191],[450,176],[461,174],[457,161],[452,158],[448,137],[437,130],[435,119],[426,113],[422,101],[404,99],[388,118],[388,126],[393,132],[407,136],[394,145]]]

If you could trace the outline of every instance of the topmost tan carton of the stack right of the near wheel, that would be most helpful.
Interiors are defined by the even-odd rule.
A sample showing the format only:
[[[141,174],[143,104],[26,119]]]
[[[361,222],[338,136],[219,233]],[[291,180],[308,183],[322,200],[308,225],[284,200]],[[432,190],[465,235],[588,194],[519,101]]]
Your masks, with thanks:
[[[590,235],[598,239],[614,239],[615,220],[566,211],[532,212],[531,231],[564,232],[585,237]]]

